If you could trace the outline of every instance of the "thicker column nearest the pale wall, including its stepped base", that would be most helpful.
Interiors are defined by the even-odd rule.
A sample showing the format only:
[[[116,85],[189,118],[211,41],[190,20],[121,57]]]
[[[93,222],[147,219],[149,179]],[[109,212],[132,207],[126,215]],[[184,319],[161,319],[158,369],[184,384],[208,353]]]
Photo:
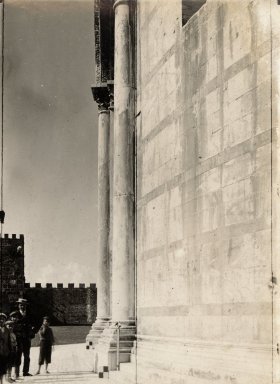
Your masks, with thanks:
[[[120,362],[130,361],[135,339],[134,261],[134,87],[130,0],[116,0],[114,59],[114,156],[112,321],[96,347],[99,366],[117,368],[116,323],[120,326]]]

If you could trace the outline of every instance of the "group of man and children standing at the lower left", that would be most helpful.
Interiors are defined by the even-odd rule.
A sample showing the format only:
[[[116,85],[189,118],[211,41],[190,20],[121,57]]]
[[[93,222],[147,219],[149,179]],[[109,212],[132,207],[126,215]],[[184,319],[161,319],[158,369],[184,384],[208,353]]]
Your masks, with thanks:
[[[20,298],[17,301],[18,310],[13,311],[8,316],[0,313],[0,383],[3,378],[9,383],[15,382],[20,376],[20,366],[23,356],[23,376],[32,376],[29,372],[30,367],[30,348],[31,340],[35,337],[36,330],[32,325],[32,320],[27,311],[27,300]],[[49,318],[43,318],[42,326],[39,329],[40,354],[38,370],[40,374],[41,366],[45,363],[46,373],[48,364],[51,362],[52,346],[54,336],[49,326]],[[14,374],[12,376],[12,371]]]

